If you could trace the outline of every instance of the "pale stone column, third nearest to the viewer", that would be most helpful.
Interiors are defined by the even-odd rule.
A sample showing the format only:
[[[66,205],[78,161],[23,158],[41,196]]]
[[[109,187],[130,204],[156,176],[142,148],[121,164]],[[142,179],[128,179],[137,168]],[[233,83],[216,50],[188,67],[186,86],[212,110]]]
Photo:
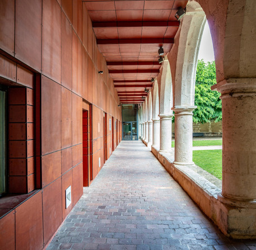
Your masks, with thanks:
[[[160,150],[171,152],[171,118],[173,114],[160,114]]]

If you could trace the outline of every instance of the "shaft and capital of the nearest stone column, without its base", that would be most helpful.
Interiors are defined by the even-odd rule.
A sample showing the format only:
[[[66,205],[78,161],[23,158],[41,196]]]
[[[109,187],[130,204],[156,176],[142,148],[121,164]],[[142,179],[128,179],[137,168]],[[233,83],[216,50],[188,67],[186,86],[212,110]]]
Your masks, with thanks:
[[[222,99],[222,195],[256,199],[256,87],[229,79],[217,88]]]

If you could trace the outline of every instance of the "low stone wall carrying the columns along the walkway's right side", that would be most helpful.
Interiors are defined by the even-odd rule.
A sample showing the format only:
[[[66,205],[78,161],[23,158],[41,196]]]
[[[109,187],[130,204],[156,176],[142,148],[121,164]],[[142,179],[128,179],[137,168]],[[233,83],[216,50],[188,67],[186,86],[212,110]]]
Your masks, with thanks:
[[[191,166],[174,164],[174,151],[160,153],[152,146],[151,152],[222,233],[235,239],[256,238],[256,202],[248,204],[222,197],[221,189]]]

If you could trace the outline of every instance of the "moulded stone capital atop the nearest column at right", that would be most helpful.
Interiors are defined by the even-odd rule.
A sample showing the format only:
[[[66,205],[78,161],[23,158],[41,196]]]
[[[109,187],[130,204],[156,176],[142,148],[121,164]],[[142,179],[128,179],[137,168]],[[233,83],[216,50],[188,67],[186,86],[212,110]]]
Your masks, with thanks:
[[[221,93],[221,99],[241,96],[255,96],[256,78],[229,78],[211,87]]]

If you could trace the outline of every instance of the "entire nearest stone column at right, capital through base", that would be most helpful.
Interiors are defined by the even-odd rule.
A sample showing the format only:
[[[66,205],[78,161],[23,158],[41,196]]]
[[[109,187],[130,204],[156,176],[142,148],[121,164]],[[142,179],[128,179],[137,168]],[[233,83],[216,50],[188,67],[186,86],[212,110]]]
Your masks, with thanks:
[[[228,79],[216,85],[222,99],[223,141],[219,226],[232,238],[255,238],[256,79]]]

